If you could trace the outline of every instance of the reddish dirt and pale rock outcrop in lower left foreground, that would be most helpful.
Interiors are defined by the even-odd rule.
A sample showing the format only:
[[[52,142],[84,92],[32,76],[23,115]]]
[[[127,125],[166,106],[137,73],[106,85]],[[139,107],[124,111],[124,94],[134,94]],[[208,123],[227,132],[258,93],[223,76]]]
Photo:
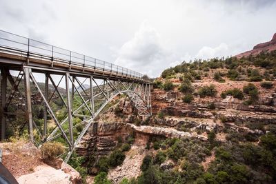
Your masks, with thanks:
[[[19,184],[81,183],[79,172],[70,165],[61,163],[57,170],[43,163],[41,152],[32,143],[0,143],[0,147],[3,150],[3,165],[17,178]]]

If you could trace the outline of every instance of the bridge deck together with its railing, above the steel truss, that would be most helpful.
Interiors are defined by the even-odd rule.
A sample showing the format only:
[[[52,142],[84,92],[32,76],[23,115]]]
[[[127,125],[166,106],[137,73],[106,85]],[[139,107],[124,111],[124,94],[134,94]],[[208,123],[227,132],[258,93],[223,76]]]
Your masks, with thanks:
[[[28,65],[34,72],[50,70],[51,73],[59,74],[70,71],[76,76],[92,74],[95,79],[109,78],[149,83],[143,74],[128,68],[2,30],[0,30],[1,65],[6,65],[11,70],[20,70],[21,65]]]

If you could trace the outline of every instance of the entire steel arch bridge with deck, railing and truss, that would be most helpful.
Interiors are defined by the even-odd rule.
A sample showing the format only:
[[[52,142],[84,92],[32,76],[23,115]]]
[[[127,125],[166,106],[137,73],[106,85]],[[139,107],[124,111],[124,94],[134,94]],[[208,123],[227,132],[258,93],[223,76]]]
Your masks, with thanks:
[[[22,130],[37,145],[59,139],[68,145],[65,161],[119,94],[140,116],[151,115],[151,83],[143,74],[2,30],[0,70],[1,141]]]

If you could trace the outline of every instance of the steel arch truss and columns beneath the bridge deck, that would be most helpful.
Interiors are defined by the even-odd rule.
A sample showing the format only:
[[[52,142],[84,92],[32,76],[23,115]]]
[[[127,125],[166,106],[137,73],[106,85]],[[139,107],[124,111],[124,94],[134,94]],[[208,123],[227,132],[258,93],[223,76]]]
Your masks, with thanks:
[[[43,74],[45,77],[44,87],[37,82],[37,72],[40,73],[40,76]],[[60,79],[54,79],[53,75],[60,76]],[[19,69],[17,78],[14,79],[9,68],[1,67],[1,140],[5,139],[8,123],[11,127],[15,127],[12,125],[12,121],[8,122],[8,116],[16,114],[16,112],[9,112],[9,107],[14,103],[21,104],[19,106],[21,111],[26,114],[26,121],[17,129],[23,130],[23,127],[28,125],[30,141],[37,145],[55,139],[63,139],[68,145],[67,151],[63,153],[67,154],[65,159],[67,162],[95,118],[119,94],[128,96],[140,116],[151,115],[150,83],[122,80],[108,77],[99,79],[93,74],[63,70],[59,72],[43,70],[43,68],[37,70],[29,65],[23,65]],[[59,88],[64,81],[65,94]],[[7,93],[8,82],[11,86],[9,94]],[[84,85],[88,82],[89,85]],[[25,92],[19,90],[20,83],[24,84]],[[49,90],[50,85],[53,86],[53,91]],[[43,125],[40,126],[34,121],[32,112],[34,103],[36,103],[32,97],[33,94],[41,96],[41,103],[44,107]],[[59,99],[61,107],[53,107],[53,99]],[[55,127],[51,131],[49,131],[50,120],[55,122]],[[36,132],[35,135],[34,132]]]

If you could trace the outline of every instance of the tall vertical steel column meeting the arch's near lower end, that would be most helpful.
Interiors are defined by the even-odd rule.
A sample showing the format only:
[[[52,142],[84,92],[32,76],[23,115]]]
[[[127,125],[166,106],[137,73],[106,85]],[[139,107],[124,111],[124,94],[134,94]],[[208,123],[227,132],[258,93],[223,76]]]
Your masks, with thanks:
[[[67,110],[68,110],[68,122],[69,122],[69,134],[70,134],[70,142],[72,143],[72,147],[70,147],[70,150],[72,150],[74,146],[74,137],[73,137],[73,123],[72,123],[72,108],[71,108],[71,102],[70,102],[70,87],[69,87],[69,73],[66,73],[66,97],[67,97]],[[74,85],[72,85],[72,89],[74,89]]]

